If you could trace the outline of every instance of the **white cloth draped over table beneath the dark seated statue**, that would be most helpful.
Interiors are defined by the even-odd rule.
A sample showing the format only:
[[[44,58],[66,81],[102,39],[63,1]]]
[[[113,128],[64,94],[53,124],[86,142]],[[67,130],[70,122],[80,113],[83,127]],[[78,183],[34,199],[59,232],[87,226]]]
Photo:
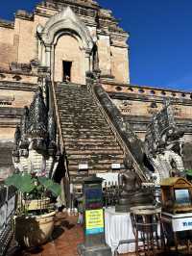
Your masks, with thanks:
[[[106,243],[111,247],[112,253],[122,240],[134,240],[132,233],[132,220],[130,213],[115,213],[115,208],[105,209]],[[135,243],[125,243],[119,246],[119,253],[135,251]]]

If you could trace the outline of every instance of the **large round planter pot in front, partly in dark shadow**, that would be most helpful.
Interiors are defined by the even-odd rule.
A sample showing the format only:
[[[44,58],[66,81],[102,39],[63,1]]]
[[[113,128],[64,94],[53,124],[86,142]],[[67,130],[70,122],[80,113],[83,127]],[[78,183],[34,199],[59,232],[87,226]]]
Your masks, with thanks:
[[[15,217],[15,240],[24,247],[46,243],[53,232],[55,216],[56,212],[32,217]]]

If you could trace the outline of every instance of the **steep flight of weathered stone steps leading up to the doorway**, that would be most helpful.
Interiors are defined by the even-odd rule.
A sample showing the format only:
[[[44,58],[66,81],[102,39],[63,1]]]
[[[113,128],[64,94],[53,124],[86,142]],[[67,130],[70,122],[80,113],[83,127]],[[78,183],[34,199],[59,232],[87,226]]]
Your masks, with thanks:
[[[123,151],[87,87],[58,83],[55,91],[70,179],[87,175],[79,171],[79,164],[88,165],[88,174],[122,164]]]

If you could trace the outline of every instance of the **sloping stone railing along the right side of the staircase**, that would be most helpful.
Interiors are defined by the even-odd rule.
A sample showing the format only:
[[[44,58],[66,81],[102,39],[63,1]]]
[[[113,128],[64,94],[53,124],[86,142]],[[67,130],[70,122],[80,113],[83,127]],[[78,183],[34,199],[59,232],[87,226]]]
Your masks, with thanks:
[[[92,93],[94,99],[98,103],[98,107],[100,107],[100,111],[105,116],[110,129],[115,135],[116,141],[119,141],[124,156],[129,156],[132,159],[132,164],[141,181],[146,182],[148,179],[144,171],[146,168],[143,166],[142,160],[140,159],[142,157],[141,142],[137,138],[134,138],[134,134],[131,130],[125,131],[124,120],[118,109],[109,99],[108,93],[106,93],[99,84],[94,84],[93,80],[87,78],[86,82],[88,90]],[[132,141],[133,139],[134,141]],[[134,148],[132,148],[133,144]],[[134,150],[135,148],[137,149],[136,152]]]

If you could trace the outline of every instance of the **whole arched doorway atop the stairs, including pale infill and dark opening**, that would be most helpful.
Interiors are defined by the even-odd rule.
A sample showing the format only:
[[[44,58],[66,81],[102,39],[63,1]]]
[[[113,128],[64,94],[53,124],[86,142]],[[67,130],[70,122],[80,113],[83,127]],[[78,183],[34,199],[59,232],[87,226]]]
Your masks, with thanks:
[[[92,70],[93,40],[84,22],[67,7],[52,16],[45,27],[37,27],[42,65],[50,67],[52,80],[65,77],[85,84],[86,71]]]

